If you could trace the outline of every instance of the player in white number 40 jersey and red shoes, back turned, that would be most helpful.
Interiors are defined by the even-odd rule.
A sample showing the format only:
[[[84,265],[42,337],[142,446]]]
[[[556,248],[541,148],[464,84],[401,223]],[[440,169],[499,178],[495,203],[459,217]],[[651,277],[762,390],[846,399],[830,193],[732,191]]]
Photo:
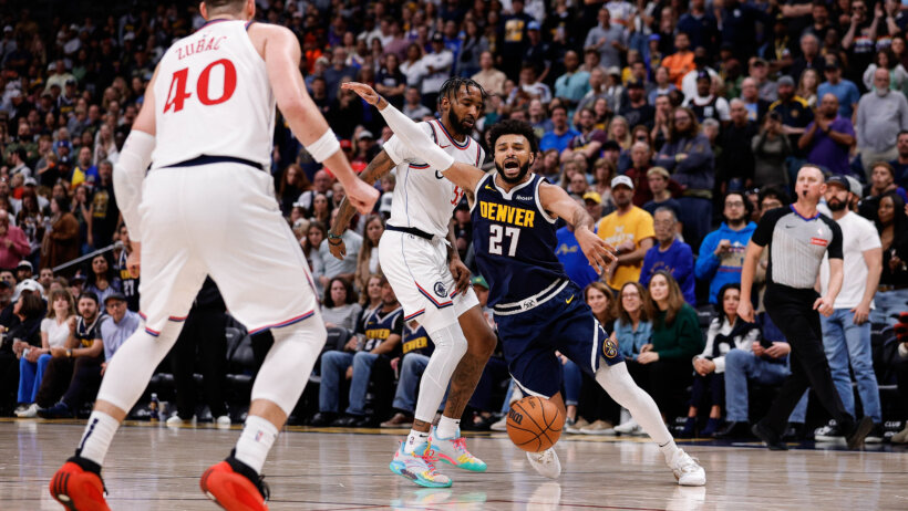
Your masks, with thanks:
[[[110,442],[206,275],[230,312],[250,331],[271,328],[275,344],[236,448],[205,472],[202,489],[228,510],[267,509],[265,458],[302,393],[299,375],[311,372],[326,338],[306,260],[266,170],[276,104],[359,210],[378,199],[355,179],[306,93],[296,35],[252,23],[255,0],[205,0],[200,9],[207,23],[162,58],[114,168],[134,248],[128,265],[137,273],[142,264],[145,324],[109,361],[75,456],[51,481],[51,494],[70,510],[109,509],[100,472]]]

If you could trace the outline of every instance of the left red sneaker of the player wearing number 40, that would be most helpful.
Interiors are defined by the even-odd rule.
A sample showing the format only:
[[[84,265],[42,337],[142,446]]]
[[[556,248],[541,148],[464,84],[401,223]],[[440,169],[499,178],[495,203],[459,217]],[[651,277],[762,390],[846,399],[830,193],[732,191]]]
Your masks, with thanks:
[[[51,497],[70,511],[110,511],[101,467],[73,456],[51,479]]]

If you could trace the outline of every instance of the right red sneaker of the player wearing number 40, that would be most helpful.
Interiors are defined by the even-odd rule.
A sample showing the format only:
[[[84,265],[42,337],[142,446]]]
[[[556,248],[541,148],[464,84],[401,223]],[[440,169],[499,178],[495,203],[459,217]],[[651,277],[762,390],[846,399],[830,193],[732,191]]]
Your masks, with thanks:
[[[226,460],[208,468],[198,486],[203,493],[228,511],[268,511],[265,502],[270,491],[262,479],[230,453]]]

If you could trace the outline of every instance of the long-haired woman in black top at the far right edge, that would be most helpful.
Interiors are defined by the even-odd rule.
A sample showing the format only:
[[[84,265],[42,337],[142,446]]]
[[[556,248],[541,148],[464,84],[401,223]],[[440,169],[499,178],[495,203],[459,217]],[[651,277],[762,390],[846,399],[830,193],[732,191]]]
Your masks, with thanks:
[[[898,194],[884,195],[878,205],[875,222],[883,244],[883,273],[870,321],[894,325],[908,303],[908,217]]]

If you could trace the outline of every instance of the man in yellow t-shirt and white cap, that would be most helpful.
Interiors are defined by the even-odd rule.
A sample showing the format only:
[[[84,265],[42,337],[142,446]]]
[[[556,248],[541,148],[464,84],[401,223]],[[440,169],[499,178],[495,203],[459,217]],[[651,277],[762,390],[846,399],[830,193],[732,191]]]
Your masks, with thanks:
[[[611,198],[616,209],[599,220],[596,233],[616,249],[607,283],[612,290],[620,290],[626,282],[640,279],[643,255],[652,248],[656,234],[650,213],[633,206],[633,181],[629,177],[617,176],[611,180]]]

